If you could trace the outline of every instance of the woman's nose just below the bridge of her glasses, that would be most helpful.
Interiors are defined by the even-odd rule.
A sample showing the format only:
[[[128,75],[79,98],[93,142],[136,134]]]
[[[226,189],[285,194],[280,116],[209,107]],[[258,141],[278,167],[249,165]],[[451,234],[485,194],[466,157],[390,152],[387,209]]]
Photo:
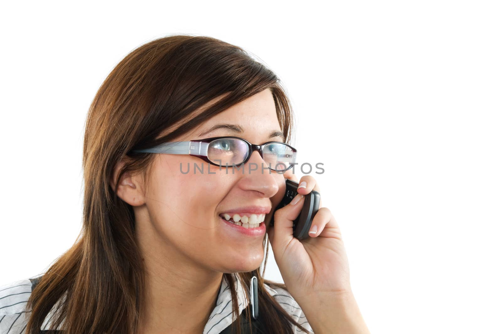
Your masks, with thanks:
[[[263,169],[262,169],[263,166]],[[272,197],[279,191],[279,186],[276,182],[275,171],[268,169],[266,163],[260,153],[254,151],[249,160],[244,163],[244,172],[239,187],[242,190],[254,190],[261,193],[261,197]],[[239,174],[242,172],[238,172]]]

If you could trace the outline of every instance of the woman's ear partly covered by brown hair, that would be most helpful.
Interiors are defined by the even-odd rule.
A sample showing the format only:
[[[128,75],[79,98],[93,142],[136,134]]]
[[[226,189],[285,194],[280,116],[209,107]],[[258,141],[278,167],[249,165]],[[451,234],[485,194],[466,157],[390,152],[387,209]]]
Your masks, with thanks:
[[[132,206],[143,205],[145,204],[146,196],[144,178],[141,174],[123,174],[115,188],[115,181],[124,164],[126,164],[126,161],[122,159],[115,165],[115,168],[113,169],[113,177],[110,180],[110,187],[124,202]]]

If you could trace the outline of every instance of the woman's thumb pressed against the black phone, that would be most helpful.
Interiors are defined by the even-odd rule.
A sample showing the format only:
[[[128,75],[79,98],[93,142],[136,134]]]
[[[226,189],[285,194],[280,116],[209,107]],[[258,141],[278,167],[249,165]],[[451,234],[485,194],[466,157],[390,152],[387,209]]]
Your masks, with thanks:
[[[302,194],[297,194],[288,205],[274,213],[274,227],[271,227],[269,231],[274,254],[283,254],[288,243],[294,238],[293,221],[302,211],[304,200]]]

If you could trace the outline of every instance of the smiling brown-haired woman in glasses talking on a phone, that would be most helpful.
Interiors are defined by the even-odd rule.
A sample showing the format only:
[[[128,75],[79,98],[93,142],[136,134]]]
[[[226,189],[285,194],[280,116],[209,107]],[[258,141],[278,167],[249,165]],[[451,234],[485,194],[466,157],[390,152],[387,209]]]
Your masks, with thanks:
[[[291,159],[247,168],[292,150],[291,121],[277,76],[237,46],[177,35],[131,52],[89,109],[81,235],[46,273],[0,289],[1,332],[367,331],[329,209],[293,237],[316,181],[296,180]],[[285,178],[299,195],[274,213]],[[285,284],[259,271],[269,239]]]

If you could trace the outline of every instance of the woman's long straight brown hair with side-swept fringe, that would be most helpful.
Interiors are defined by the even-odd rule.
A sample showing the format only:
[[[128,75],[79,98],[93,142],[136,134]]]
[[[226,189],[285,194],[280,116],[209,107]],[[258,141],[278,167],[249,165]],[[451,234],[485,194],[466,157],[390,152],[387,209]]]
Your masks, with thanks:
[[[277,75],[242,48],[207,36],[173,35],[133,50],[109,73],[92,101],[83,145],[83,226],[74,245],[50,266],[30,296],[27,333],[39,333],[49,311],[54,328],[72,334],[136,333],[144,307],[144,268],[135,239],[131,205],[110,187],[114,166],[124,173],[147,173],[153,154],[130,153],[170,141],[265,89],[274,97],[279,124],[291,141],[292,108]],[[224,95],[203,113],[195,110]],[[182,125],[163,134],[181,121]],[[264,239],[265,267],[269,251]],[[263,279],[260,268],[237,273],[243,286],[256,276],[260,317],[274,333],[293,333],[296,322],[264,288],[284,284]],[[232,274],[223,274],[233,319],[241,332]],[[246,292],[247,293],[247,292]],[[109,307],[113,305],[113,307]],[[99,315],[99,316],[96,316]],[[305,330],[305,329],[304,329]],[[305,332],[308,332],[305,330]]]

